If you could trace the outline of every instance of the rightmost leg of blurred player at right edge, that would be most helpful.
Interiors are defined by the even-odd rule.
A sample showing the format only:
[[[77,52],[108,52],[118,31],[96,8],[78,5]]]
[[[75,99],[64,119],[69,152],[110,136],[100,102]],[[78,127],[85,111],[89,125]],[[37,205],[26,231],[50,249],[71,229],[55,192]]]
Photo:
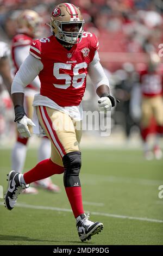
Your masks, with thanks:
[[[162,158],[162,151],[160,149],[159,141],[160,137],[163,134],[163,100],[162,96],[154,97],[153,99],[153,110],[156,120],[156,136],[155,136],[155,142],[154,142],[154,156],[157,160],[160,160]]]

